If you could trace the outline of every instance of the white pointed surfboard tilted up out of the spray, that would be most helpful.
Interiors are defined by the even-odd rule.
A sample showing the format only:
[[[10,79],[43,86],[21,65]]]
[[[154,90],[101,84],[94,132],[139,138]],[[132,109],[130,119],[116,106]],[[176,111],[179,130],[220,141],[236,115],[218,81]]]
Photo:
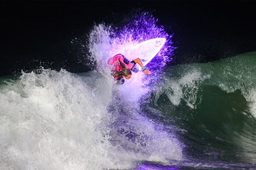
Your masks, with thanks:
[[[165,42],[165,38],[154,38],[135,45],[136,57],[141,59],[144,66],[147,65],[157,55]]]

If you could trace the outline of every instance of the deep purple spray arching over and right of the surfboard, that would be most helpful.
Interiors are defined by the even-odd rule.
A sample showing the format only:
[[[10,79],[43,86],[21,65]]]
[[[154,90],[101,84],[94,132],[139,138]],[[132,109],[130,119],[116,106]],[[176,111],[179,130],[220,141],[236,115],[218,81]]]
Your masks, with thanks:
[[[127,20],[127,18],[125,19]],[[168,34],[158,19],[148,12],[135,14],[131,16],[128,23],[124,23],[121,27],[113,28],[112,36],[120,40],[120,44],[132,42],[133,45],[143,43],[147,40],[155,38],[165,38],[166,41],[156,56],[148,63],[148,68],[157,70],[164,68],[166,64],[172,61],[173,51],[175,47],[172,45],[172,34]]]

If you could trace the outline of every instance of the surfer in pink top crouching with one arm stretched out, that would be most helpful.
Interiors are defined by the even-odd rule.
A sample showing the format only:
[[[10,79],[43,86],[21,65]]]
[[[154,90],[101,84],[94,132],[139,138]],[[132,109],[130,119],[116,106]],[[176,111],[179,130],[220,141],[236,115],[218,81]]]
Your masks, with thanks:
[[[125,79],[131,78],[131,71],[137,73],[139,69],[136,67],[136,64],[139,64],[142,68],[143,73],[151,74],[142,64],[139,58],[134,59],[129,62],[122,54],[116,54],[114,57],[108,60],[108,65],[113,65],[114,68],[111,71],[111,75],[114,77],[116,84],[122,85],[125,82]],[[125,78],[125,79],[124,79]]]

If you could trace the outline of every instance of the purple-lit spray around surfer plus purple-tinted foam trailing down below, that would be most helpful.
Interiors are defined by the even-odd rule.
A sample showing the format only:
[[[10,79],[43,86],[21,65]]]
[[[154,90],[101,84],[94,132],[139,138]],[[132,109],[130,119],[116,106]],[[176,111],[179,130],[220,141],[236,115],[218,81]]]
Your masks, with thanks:
[[[140,26],[141,24],[143,26]],[[113,101],[110,104],[109,112],[112,113],[111,117],[115,119],[115,122],[111,125],[113,138],[111,141],[115,141],[113,143],[116,145],[118,139],[117,144],[122,143],[120,146],[123,149],[143,154],[147,157],[145,160],[181,159],[181,146],[175,136],[163,130],[164,128],[160,128],[160,124],[157,122],[148,120],[146,113],[142,113],[137,104],[137,102],[145,100],[143,95],[150,91],[148,84],[160,77],[161,69],[172,56],[174,49],[171,41],[172,36],[169,36],[162,26],[157,26],[157,20],[154,17],[144,13],[139,17],[132,18],[131,22],[121,27],[106,26],[105,24],[95,25],[90,32],[88,46],[91,56],[97,63],[97,69],[103,74],[109,74],[109,70],[106,68],[111,69],[111,66],[108,66],[107,62],[113,55],[121,53],[131,61],[136,58],[136,55],[131,55],[131,48],[134,45],[156,37],[165,37],[168,39],[168,43],[159,53],[165,54],[165,56],[152,62],[153,67],[149,63],[149,68],[155,66],[158,68],[152,69],[153,76],[145,76],[143,72],[133,73],[131,79],[125,79],[124,85],[113,86]],[[157,73],[159,74],[158,77],[156,77]],[[141,117],[141,114],[144,116]],[[147,137],[143,138],[143,136]],[[128,142],[124,142],[126,140]],[[160,141],[163,143],[161,144]],[[143,143],[142,146],[141,143]],[[152,145],[155,146],[152,147]]]

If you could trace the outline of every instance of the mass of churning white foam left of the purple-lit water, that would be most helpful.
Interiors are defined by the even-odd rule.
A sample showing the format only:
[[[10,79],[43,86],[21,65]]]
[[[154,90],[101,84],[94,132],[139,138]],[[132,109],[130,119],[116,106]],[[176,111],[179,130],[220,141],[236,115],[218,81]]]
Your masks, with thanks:
[[[14,90],[2,89],[1,162],[13,169],[128,166],[113,162],[118,160],[109,154],[114,148],[102,136],[102,119],[109,116],[106,104],[112,95],[106,90],[111,86],[105,85],[89,88],[67,71],[44,71],[23,74]]]

